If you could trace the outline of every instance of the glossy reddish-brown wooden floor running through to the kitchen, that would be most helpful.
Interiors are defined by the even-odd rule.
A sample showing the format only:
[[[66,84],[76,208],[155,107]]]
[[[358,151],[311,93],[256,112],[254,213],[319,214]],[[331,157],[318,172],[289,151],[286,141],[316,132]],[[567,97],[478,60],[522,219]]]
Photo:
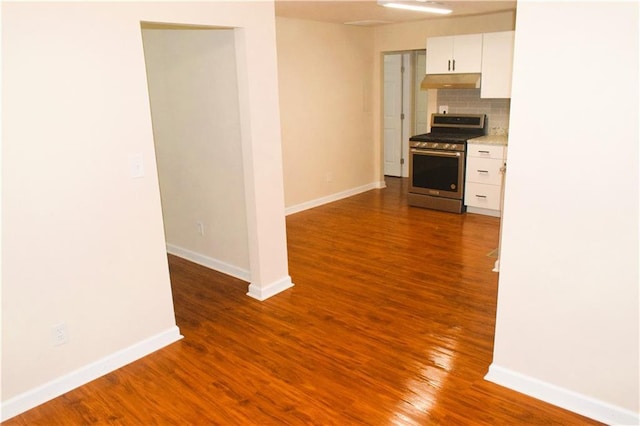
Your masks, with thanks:
[[[184,339],[4,424],[598,424],[483,380],[499,219],[405,191],[289,216],[295,287],[264,302],[170,257]]]

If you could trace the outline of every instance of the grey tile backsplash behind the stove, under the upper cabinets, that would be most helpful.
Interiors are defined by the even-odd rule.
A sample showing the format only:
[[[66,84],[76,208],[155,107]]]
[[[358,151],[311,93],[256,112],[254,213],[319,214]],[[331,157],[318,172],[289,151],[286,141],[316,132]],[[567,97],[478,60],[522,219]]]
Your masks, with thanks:
[[[481,99],[480,89],[439,89],[440,105],[447,105],[449,114],[486,114],[487,134],[509,133],[511,99]]]

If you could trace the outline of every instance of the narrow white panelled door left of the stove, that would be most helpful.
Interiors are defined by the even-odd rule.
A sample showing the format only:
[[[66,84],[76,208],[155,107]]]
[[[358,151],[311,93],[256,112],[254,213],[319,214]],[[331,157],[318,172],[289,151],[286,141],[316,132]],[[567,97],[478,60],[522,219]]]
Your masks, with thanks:
[[[384,174],[402,175],[402,54],[384,55]]]

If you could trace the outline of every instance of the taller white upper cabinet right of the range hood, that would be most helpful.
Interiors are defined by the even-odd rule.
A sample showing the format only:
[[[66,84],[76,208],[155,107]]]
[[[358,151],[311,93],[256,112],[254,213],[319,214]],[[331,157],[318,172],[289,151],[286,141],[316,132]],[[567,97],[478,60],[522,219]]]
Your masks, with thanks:
[[[511,97],[514,35],[514,31],[484,34],[482,41],[481,98]]]

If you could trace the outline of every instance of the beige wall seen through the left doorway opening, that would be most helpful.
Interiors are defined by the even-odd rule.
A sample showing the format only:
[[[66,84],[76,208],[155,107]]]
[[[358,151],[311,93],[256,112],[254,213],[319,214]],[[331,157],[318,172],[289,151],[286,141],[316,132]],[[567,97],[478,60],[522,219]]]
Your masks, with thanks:
[[[142,34],[167,246],[248,279],[234,31]]]

